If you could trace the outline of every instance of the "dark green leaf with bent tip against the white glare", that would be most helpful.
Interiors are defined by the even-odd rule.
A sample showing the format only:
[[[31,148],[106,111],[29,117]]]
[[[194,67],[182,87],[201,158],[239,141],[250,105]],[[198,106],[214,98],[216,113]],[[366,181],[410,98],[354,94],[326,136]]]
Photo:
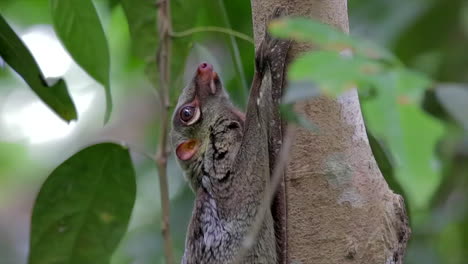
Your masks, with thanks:
[[[0,15],[0,57],[10,65],[31,89],[65,121],[77,118],[76,108],[68,94],[65,81],[48,85],[31,52]]]

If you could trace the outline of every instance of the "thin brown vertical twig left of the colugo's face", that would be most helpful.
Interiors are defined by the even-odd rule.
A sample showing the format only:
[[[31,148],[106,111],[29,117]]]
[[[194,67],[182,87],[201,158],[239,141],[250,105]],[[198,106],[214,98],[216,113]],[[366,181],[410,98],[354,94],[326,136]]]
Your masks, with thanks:
[[[161,189],[161,232],[164,238],[164,256],[166,264],[174,264],[172,253],[172,238],[169,228],[169,188],[167,183],[167,138],[169,126],[169,82],[170,82],[170,56],[171,56],[171,16],[169,0],[158,2],[158,32],[161,40],[156,54],[156,62],[159,69],[159,99],[161,115],[161,133],[159,138],[156,164],[158,167],[159,187]]]

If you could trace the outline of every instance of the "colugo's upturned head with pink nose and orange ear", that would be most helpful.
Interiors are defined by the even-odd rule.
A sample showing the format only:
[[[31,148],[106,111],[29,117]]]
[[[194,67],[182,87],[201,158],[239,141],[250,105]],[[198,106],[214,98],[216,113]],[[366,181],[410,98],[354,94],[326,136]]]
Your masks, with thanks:
[[[172,147],[194,190],[200,185],[204,154],[210,147],[210,129],[220,118],[239,124],[244,119],[233,107],[213,65],[204,62],[182,91],[172,117]]]

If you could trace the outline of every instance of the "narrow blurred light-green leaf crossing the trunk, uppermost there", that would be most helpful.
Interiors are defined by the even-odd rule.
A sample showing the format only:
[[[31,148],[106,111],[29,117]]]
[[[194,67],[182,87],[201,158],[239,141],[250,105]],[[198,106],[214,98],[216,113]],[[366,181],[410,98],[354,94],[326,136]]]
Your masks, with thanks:
[[[304,17],[282,18],[270,24],[273,35],[297,41],[312,42],[321,49],[351,50],[359,56],[383,60],[391,64],[401,63],[387,50],[369,41],[355,40],[338,29]]]

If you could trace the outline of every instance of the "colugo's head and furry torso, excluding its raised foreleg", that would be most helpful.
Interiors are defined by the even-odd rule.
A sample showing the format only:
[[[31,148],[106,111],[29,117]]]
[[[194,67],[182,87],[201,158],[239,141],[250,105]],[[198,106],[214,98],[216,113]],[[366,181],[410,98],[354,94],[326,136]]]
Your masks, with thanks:
[[[200,64],[182,94],[171,135],[196,193],[182,263],[231,263],[250,230],[268,182],[267,144],[259,142],[254,153],[242,155],[245,117],[230,102],[211,65]],[[198,120],[184,121],[181,115]],[[266,131],[263,133],[267,141]],[[263,168],[240,166],[246,158],[258,159]],[[256,245],[240,263],[276,263],[270,210]]]

